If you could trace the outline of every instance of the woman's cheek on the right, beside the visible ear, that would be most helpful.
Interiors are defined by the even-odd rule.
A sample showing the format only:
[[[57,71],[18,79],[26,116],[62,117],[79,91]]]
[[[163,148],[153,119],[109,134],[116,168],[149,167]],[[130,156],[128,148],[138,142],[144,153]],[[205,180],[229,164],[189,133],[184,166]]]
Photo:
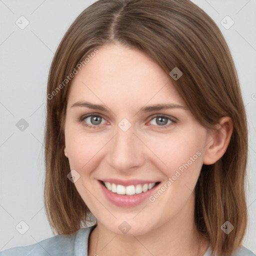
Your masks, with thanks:
[[[173,176],[173,179],[179,180],[175,181],[177,183],[195,182],[202,165],[203,136],[203,132],[198,136],[194,130],[158,136],[157,139],[149,137],[147,145],[155,155],[151,153],[149,159],[166,179]]]

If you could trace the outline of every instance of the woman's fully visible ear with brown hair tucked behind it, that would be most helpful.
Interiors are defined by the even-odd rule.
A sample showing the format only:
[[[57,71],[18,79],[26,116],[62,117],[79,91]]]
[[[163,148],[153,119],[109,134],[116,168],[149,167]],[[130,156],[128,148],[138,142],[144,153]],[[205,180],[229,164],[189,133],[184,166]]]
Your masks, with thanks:
[[[220,118],[217,130],[209,133],[209,143],[205,146],[204,164],[213,164],[225,153],[233,131],[233,123],[229,116]]]

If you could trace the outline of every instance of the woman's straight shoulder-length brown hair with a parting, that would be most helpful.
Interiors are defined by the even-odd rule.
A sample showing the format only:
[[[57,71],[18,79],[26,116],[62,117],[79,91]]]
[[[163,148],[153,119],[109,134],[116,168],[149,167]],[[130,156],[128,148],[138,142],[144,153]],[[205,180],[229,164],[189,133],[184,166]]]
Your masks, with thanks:
[[[224,155],[202,165],[194,212],[213,253],[231,255],[241,246],[247,225],[247,121],[228,46],[214,21],[189,0],[98,0],[62,38],[49,71],[44,140],[44,204],[53,232],[75,232],[86,226],[90,213],[67,178],[64,121],[70,82],[63,81],[89,52],[111,42],[142,50],[167,74],[178,67],[183,74],[173,84],[205,127],[212,129],[220,117],[231,117],[233,132]],[[228,235],[220,228],[227,220],[234,226]]]

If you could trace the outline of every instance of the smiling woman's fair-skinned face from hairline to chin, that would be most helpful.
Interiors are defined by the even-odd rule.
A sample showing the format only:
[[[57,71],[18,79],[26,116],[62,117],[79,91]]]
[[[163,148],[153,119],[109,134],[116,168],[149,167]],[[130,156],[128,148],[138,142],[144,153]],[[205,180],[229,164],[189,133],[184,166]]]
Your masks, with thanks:
[[[64,153],[81,198],[112,232],[143,234],[193,212],[209,137],[172,81],[119,44],[98,48],[72,79]]]

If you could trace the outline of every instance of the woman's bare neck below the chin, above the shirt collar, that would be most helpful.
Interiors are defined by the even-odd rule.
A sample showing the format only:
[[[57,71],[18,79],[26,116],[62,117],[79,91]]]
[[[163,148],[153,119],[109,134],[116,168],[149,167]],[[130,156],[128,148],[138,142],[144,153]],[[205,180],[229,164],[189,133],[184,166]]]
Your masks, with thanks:
[[[127,256],[203,255],[209,241],[198,232],[191,206],[194,209],[192,200],[168,221],[141,235],[119,235],[97,221],[89,237],[88,256],[108,256],[113,252]]]

